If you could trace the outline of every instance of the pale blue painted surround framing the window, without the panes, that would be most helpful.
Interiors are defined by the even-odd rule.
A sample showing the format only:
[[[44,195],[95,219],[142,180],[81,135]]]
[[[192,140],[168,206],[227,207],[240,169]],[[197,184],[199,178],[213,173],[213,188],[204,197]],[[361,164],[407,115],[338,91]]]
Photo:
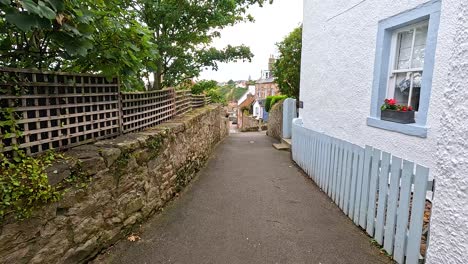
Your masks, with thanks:
[[[367,125],[396,131],[403,134],[426,137],[427,136],[427,114],[429,110],[429,102],[432,88],[432,75],[434,70],[434,58],[437,44],[437,32],[440,21],[440,0],[430,1],[428,3],[417,6],[414,9],[404,13],[392,16],[379,22],[377,33],[377,47],[374,64],[374,82],[372,87],[371,112],[367,118]],[[395,60],[395,48],[392,46],[395,43],[395,34],[399,30],[411,27],[412,25],[426,25],[427,37],[425,49],[423,50],[424,63],[421,69],[422,76],[420,77],[420,90],[418,111],[416,113],[416,123],[414,124],[399,124],[380,119],[380,106],[385,98],[388,98],[389,91],[389,72],[391,65]],[[414,40],[413,40],[414,44]],[[393,50],[392,50],[393,48]],[[411,68],[411,67],[410,67]]]

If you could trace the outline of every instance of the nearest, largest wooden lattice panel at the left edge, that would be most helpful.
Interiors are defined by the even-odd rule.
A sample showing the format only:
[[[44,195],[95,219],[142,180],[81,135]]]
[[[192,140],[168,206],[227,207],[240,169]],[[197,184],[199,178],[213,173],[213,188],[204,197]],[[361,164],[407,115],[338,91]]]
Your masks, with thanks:
[[[1,152],[66,149],[120,134],[119,84],[103,76],[1,68],[0,120],[13,111],[22,136],[0,128]],[[2,136],[3,135],[3,136]]]

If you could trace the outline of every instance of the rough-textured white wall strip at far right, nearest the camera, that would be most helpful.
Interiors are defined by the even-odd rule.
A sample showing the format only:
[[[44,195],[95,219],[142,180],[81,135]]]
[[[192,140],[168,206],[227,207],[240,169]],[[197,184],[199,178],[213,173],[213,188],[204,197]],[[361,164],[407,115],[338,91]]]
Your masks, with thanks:
[[[445,65],[450,74],[441,87],[442,122],[428,264],[468,260],[468,2],[455,2],[451,1],[453,13],[446,18],[453,32],[448,48],[452,56]]]

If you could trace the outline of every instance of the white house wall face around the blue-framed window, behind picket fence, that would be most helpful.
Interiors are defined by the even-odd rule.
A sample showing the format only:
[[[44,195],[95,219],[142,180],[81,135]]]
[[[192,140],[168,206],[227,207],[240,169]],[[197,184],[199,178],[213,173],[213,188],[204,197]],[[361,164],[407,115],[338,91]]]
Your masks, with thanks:
[[[378,23],[426,0],[304,1],[300,117],[308,128],[371,145],[434,168],[441,98],[447,85],[453,14],[462,0],[444,0],[426,138],[370,127]],[[372,10],[372,12],[369,12]],[[342,13],[342,14],[341,14]]]

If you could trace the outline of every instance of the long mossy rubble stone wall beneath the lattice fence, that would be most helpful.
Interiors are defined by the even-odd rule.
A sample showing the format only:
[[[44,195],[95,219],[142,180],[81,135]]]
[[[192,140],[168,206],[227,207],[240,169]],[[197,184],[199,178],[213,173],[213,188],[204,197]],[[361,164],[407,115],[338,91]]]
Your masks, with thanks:
[[[204,165],[229,131],[225,112],[207,106],[144,132],[74,148],[80,162],[51,168],[51,183],[80,167],[83,189],[0,227],[0,263],[84,263],[160,210]]]

